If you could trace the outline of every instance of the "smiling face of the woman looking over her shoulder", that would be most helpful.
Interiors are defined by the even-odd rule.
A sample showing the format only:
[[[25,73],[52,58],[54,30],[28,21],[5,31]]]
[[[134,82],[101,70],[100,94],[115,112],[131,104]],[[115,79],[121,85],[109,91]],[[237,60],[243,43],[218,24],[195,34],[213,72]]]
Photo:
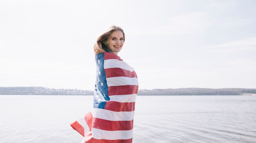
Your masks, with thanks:
[[[124,35],[121,31],[114,31],[106,41],[108,49],[113,52],[120,52],[124,45]]]

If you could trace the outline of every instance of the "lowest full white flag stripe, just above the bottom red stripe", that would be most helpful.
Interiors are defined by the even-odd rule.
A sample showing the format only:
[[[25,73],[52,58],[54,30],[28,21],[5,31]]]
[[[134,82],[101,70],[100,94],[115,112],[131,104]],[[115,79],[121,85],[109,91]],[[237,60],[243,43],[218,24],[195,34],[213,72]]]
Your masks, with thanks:
[[[92,128],[92,137],[94,139],[107,139],[107,140],[115,140],[115,139],[131,139],[132,138],[132,130],[100,130],[97,128]]]

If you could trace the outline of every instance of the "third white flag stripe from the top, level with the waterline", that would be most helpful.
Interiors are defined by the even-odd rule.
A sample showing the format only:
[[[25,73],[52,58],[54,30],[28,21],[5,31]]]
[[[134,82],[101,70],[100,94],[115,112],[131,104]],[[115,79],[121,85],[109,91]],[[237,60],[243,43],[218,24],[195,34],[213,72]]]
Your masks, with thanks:
[[[109,96],[110,101],[116,101],[116,102],[135,102],[136,97],[137,97],[137,94]]]

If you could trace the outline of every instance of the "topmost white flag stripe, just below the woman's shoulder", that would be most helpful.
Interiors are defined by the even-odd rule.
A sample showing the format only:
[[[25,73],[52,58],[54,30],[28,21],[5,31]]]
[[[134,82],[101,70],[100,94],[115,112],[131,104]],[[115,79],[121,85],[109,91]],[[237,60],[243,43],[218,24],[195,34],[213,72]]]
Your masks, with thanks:
[[[115,68],[115,67],[126,69],[131,72],[134,71],[134,69],[124,61],[119,61],[117,59],[104,60],[104,69]]]

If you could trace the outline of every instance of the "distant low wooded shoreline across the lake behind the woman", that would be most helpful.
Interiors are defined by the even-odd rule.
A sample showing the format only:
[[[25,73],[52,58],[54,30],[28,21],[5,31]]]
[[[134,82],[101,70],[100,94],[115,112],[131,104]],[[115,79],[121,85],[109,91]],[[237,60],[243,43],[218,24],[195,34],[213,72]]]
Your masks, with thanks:
[[[93,95],[93,91],[79,89],[50,89],[45,87],[0,87],[0,95]],[[256,89],[139,89],[138,95],[256,95]]]

